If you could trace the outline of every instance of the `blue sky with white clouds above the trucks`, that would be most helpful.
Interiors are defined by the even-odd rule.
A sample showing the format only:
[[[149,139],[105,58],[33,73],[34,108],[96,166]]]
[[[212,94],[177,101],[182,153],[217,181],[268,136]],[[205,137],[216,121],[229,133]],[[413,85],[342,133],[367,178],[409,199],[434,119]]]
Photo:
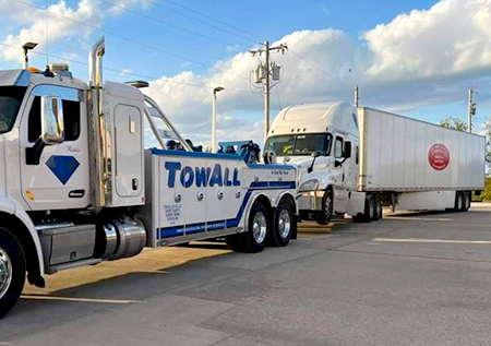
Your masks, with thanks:
[[[262,142],[263,96],[251,82],[260,43],[282,80],[272,90],[272,120],[284,107],[352,102],[439,122],[491,115],[491,0],[232,1],[0,0],[0,68],[21,65],[25,41],[39,46],[32,64],[68,62],[87,80],[87,55],[106,36],[105,79],[145,80],[177,128],[208,144],[212,91],[218,94],[218,140]],[[48,55],[48,57],[46,56]]]

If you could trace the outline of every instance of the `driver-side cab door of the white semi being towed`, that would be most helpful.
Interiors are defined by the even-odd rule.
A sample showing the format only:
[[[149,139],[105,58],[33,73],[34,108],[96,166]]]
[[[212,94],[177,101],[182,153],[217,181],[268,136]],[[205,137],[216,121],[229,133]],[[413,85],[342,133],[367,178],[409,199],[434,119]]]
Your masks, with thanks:
[[[335,134],[334,138],[334,159],[343,162],[343,146],[345,144],[345,135]],[[348,159],[349,160],[349,159]],[[349,201],[348,191],[348,168],[347,162],[338,167],[334,167],[334,211],[336,213],[346,213]]]

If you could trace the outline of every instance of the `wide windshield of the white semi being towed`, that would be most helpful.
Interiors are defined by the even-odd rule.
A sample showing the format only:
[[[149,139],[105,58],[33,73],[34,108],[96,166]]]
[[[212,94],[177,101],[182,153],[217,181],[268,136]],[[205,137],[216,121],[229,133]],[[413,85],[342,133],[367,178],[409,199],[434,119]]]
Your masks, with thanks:
[[[265,151],[273,151],[277,156],[310,155],[313,152],[328,155],[332,138],[331,133],[277,135],[267,140]]]

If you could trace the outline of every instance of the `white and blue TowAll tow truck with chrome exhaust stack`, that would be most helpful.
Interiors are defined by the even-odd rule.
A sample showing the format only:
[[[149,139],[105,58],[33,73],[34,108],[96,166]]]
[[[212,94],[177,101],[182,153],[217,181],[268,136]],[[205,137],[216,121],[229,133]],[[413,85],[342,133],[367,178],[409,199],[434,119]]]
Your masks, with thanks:
[[[47,274],[144,247],[225,238],[259,252],[296,238],[292,166],[193,151],[146,83],[103,82],[104,52],[103,37],[88,84],[63,64],[0,71],[0,317],[26,276],[44,287]],[[144,148],[145,121],[160,147]]]

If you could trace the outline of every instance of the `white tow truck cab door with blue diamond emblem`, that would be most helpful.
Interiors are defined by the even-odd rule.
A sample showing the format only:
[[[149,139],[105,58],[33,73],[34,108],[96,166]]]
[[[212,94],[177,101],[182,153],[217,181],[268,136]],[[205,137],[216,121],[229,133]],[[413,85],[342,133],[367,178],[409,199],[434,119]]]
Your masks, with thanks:
[[[27,160],[26,148],[41,134],[41,96],[62,99],[64,142],[44,147],[38,163]],[[36,210],[86,207],[89,202],[87,110],[85,93],[39,85],[32,90],[20,130],[21,186],[27,205]]]

